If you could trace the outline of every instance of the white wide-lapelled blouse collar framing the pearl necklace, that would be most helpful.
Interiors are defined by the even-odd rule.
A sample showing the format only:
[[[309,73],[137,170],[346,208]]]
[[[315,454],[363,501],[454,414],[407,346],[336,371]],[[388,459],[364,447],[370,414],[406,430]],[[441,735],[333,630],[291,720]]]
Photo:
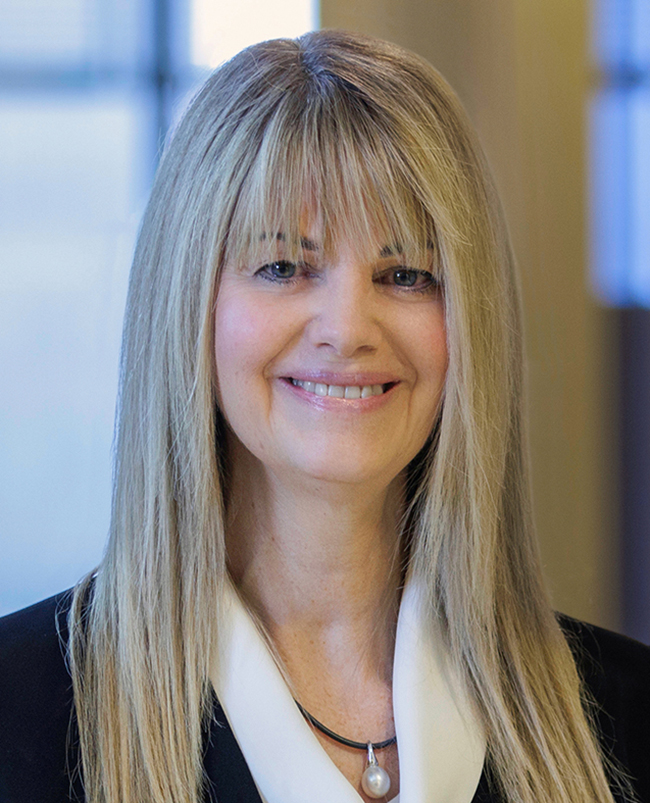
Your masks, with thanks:
[[[393,664],[400,793],[392,803],[471,803],[483,769],[485,736],[460,679],[444,660],[442,639],[424,626],[419,599],[417,584],[407,582]],[[307,798],[361,803],[298,710],[231,586],[220,631],[212,683],[264,803]]]

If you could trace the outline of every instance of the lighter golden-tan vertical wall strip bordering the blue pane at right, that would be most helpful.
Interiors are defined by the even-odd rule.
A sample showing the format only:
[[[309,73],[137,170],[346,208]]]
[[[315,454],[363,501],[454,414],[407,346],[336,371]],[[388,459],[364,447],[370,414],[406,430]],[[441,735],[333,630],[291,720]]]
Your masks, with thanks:
[[[536,512],[558,604],[616,626],[611,362],[587,280],[588,6],[514,8]]]

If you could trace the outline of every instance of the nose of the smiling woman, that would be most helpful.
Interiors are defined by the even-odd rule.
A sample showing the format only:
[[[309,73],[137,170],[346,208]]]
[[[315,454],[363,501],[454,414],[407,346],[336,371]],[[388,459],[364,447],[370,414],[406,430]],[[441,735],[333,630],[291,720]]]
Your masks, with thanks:
[[[372,277],[359,266],[337,265],[319,293],[312,343],[346,358],[375,351],[381,325],[373,289]]]

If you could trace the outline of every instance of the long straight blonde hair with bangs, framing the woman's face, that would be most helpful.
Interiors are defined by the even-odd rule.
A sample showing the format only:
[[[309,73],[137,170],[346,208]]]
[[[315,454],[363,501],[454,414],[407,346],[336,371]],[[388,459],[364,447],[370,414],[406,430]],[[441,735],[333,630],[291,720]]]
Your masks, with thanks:
[[[213,309],[226,258],[304,204],[325,247],[434,245],[449,369],[420,457],[413,570],[429,589],[512,803],[612,803],[531,523],[522,337],[500,207],[465,114],[426,62],[335,31],[255,45],[191,104],[154,184],[124,327],[112,523],[76,590],[70,656],[89,803],[198,803],[225,577]],[[216,779],[218,782],[218,779]]]

